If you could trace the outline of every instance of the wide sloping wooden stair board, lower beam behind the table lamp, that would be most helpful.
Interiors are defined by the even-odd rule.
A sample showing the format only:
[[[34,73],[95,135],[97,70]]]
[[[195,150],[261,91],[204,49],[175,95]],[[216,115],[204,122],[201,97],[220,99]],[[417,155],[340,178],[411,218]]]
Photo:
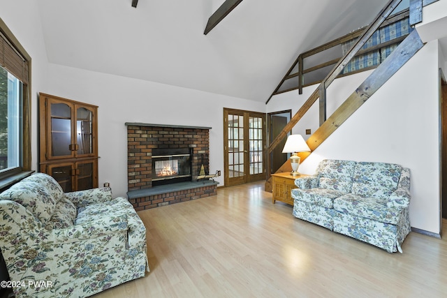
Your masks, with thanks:
[[[418,32],[413,30],[402,43],[383,61],[365,82],[349,96],[348,99],[320,126],[307,140],[309,148],[314,151],[325,139],[329,137],[346,119],[365,103],[388,79],[399,70],[406,61],[409,61],[420,48],[423,42]]]

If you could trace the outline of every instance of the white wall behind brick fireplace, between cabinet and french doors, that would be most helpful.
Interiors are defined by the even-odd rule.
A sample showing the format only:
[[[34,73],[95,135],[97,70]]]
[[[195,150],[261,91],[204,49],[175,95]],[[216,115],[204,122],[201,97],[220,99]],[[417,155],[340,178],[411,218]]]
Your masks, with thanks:
[[[210,172],[222,171],[223,107],[265,112],[265,104],[129,77],[56,64],[49,66],[47,94],[98,105],[99,185],[110,182],[115,196],[127,191],[126,122],[207,126]]]

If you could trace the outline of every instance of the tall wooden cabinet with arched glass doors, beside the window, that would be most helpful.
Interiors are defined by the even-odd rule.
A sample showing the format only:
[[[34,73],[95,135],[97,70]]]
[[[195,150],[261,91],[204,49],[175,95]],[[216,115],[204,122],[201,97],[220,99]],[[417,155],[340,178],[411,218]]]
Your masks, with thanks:
[[[65,192],[98,187],[96,105],[39,95],[40,170]]]

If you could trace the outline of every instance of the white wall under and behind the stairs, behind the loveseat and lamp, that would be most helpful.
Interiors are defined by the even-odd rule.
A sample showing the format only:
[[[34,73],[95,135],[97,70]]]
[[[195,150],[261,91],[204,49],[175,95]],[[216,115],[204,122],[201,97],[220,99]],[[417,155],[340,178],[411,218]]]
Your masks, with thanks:
[[[437,40],[425,45],[302,163],[300,172],[313,174],[323,158],[381,161],[409,167],[411,226],[439,233],[438,57]],[[333,82],[328,100],[332,100],[332,94],[336,94],[336,101],[340,94],[347,98],[365,75],[351,75]],[[303,96],[312,93],[315,87],[311,88],[311,91],[305,89]],[[295,110],[294,104],[302,102],[301,97],[298,93],[275,96],[268,110],[291,106]],[[318,108],[314,117],[318,117]]]

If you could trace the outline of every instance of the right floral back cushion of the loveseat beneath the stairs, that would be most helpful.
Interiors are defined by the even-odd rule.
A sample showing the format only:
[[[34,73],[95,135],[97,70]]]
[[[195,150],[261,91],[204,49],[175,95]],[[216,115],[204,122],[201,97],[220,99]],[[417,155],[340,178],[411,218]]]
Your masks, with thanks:
[[[357,163],[351,193],[365,198],[388,198],[397,188],[401,171],[402,167],[393,163]]]

